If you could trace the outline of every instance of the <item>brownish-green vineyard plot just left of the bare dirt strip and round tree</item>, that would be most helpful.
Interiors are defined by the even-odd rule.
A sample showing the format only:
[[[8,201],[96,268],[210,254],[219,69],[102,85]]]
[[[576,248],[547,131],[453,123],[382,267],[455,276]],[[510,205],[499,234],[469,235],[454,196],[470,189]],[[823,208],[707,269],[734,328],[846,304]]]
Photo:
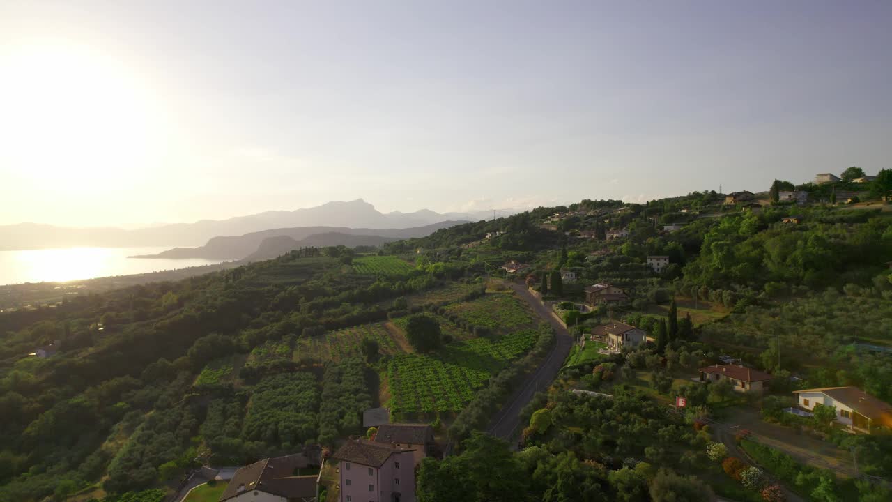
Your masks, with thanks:
[[[364,338],[378,342],[378,351],[384,355],[400,354],[402,349],[384,323],[360,324],[343,330],[326,333],[321,337],[298,339],[293,359],[310,358],[318,361],[340,361],[344,357],[361,356],[359,344]]]

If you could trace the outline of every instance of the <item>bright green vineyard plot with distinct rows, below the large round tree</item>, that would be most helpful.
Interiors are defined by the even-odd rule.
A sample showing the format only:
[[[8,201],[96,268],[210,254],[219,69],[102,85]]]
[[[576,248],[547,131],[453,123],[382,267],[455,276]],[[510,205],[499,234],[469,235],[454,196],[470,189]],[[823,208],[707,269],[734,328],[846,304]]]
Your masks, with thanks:
[[[406,354],[387,364],[392,413],[460,411],[492,374],[536,343],[535,330],[491,339],[472,339],[444,347],[437,355]]]

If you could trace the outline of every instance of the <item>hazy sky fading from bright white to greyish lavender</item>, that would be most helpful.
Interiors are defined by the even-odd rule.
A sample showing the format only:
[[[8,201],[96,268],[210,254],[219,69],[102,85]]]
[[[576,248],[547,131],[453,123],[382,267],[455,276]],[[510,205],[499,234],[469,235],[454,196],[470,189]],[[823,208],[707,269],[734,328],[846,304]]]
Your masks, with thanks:
[[[892,2],[0,0],[0,224],[892,167]]]

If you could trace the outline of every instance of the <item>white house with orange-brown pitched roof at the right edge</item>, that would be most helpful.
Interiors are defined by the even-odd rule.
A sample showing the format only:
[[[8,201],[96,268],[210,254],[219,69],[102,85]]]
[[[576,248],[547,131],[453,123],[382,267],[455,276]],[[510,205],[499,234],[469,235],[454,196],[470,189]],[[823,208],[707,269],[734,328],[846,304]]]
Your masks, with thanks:
[[[815,405],[836,406],[838,423],[849,431],[868,434],[878,426],[892,427],[892,405],[857,387],[822,387],[794,390],[800,408],[812,411]]]

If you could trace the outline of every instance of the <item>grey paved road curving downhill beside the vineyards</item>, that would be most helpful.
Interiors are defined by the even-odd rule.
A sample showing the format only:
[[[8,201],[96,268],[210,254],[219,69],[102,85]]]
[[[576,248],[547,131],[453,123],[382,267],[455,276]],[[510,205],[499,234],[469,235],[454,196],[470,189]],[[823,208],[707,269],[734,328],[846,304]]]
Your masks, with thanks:
[[[533,310],[536,314],[539,314],[543,321],[551,323],[555,330],[557,342],[551,348],[551,352],[546,356],[539,369],[527,377],[521,384],[520,389],[517,389],[514,396],[511,397],[508,404],[492,417],[490,427],[486,431],[501,439],[514,439],[520,433],[523,429],[520,426],[520,410],[530,402],[533,394],[549,388],[551,381],[558,376],[558,371],[564,365],[566,356],[570,354],[570,347],[573,347],[573,337],[558,322],[554,314],[551,314],[548,308],[533,297],[524,286],[519,284],[508,285],[516,291],[518,297],[524,298],[533,307]]]

